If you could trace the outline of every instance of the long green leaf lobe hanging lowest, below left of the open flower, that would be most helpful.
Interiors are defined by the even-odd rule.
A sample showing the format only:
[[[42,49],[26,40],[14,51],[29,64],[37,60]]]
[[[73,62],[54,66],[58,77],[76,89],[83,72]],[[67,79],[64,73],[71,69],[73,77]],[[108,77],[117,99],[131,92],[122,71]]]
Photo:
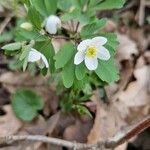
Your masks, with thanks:
[[[73,59],[71,59],[62,70],[62,79],[63,84],[66,88],[69,88],[73,85],[75,78],[75,65]]]

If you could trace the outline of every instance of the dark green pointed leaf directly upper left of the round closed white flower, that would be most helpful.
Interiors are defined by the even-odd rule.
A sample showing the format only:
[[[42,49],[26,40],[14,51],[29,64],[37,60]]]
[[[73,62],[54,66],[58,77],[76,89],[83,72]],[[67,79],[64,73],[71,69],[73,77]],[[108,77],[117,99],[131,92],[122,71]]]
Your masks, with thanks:
[[[29,17],[30,21],[32,22],[32,24],[38,30],[40,30],[41,29],[42,20],[41,20],[40,13],[35,9],[35,7],[30,6],[28,8],[28,17]]]

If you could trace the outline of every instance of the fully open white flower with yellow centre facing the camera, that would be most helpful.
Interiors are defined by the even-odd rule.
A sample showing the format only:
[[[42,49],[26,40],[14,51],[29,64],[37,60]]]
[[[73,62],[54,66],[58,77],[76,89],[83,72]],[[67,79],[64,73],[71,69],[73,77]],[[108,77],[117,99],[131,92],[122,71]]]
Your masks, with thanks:
[[[101,36],[80,42],[77,47],[78,52],[74,57],[74,64],[78,65],[84,60],[89,70],[96,70],[98,58],[101,60],[110,58],[109,51],[103,46],[106,43],[107,38]]]

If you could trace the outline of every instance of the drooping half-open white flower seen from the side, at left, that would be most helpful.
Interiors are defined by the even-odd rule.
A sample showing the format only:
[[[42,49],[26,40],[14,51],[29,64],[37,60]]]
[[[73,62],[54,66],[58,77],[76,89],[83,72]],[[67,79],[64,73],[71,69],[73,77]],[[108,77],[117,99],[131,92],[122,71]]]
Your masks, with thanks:
[[[34,48],[29,52],[28,62],[36,62],[41,69],[49,67],[46,57]]]

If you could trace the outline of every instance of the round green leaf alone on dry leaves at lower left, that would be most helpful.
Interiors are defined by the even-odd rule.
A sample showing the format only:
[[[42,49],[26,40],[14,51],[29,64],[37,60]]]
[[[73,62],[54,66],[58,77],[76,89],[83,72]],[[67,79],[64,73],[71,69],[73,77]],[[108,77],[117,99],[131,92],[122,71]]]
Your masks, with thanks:
[[[12,96],[13,111],[23,121],[32,121],[43,106],[42,98],[28,89],[17,90]]]

